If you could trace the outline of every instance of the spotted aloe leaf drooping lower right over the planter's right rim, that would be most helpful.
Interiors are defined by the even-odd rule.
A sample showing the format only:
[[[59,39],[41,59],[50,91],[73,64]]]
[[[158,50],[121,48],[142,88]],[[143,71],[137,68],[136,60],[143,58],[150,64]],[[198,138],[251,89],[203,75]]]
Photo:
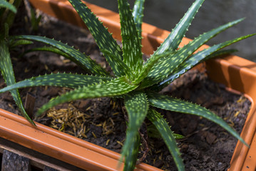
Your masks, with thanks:
[[[227,123],[225,123],[222,118],[215,115],[215,113],[212,113],[210,110],[207,110],[206,108],[201,107],[200,105],[196,105],[193,103],[186,102],[184,100],[180,100],[177,98],[172,98],[166,95],[160,95],[159,93],[147,93],[148,95],[148,101],[150,105],[153,105],[156,108],[162,108],[165,110],[180,112],[180,113],[188,113],[191,115],[198,115],[203,118],[206,118],[210,121],[213,121],[213,123],[217,123],[217,125],[220,125],[222,128],[227,130],[231,135],[233,135],[235,138],[243,142],[245,145],[247,143],[240,138],[240,135],[235,132],[235,130],[230,127]]]

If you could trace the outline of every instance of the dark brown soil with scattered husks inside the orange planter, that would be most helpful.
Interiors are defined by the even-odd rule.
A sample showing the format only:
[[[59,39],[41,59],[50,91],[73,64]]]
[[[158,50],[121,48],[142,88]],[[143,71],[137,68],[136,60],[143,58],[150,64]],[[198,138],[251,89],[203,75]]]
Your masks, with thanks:
[[[12,34],[37,34],[48,38],[55,38],[79,48],[91,58],[106,66],[105,60],[98,51],[95,41],[88,31],[43,15],[39,31],[29,31],[29,23],[19,15],[11,30]],[[39,46],[36,43],[36,46]],[[16,81],[39,76],[44,73],[72,72],[86,73],[71,61],[53,53],[29,53],[18,57],[31,46],[21,46],[11,53]],[[5,83],[0,80],[0,88]],[[29,92],[36,97],[36,110],[56,95],[65,93],[68,88],[36,87],[20,89],[24,101]],[[225,90],[225,87],[210,81],[205,73],[190,71],[177,81],[165,88],[162,93],[198,103],[209,108],[232,125],[238,133],[242,130],[245,118],[250,110],[250,101],[243,95],[237,95]],[[13,113],[18,113],[9,93],[0,95],[0,108]],[[184,135],[178,140],[178,146],[183,154],[186,170],[227,170],[230,165],[232,152],[237,140],[220,126],[194,115],[185,115],[159,110],[165,115],[175,133]],[[36,119],[39,123],[49,125],[58,130],[83,138],[94,144],[120,152],[125,140],[125,115],[123,114],[122,101],[111,98],[98,98],[77,100],[72,103],[58,105],[45,114],[43,118]],[[143,128],[150,127],[146,121]],[[150,147],[147,157],[143,162],[150,163],[163,170],[176,170],[172,156],[168,152],[163,140],[148,135],[145,138]],[[143,142],[142,142],[143,144]],[[142,147],[142,154],[145,145]],[[141,156],[140,156],[141,157]]]

